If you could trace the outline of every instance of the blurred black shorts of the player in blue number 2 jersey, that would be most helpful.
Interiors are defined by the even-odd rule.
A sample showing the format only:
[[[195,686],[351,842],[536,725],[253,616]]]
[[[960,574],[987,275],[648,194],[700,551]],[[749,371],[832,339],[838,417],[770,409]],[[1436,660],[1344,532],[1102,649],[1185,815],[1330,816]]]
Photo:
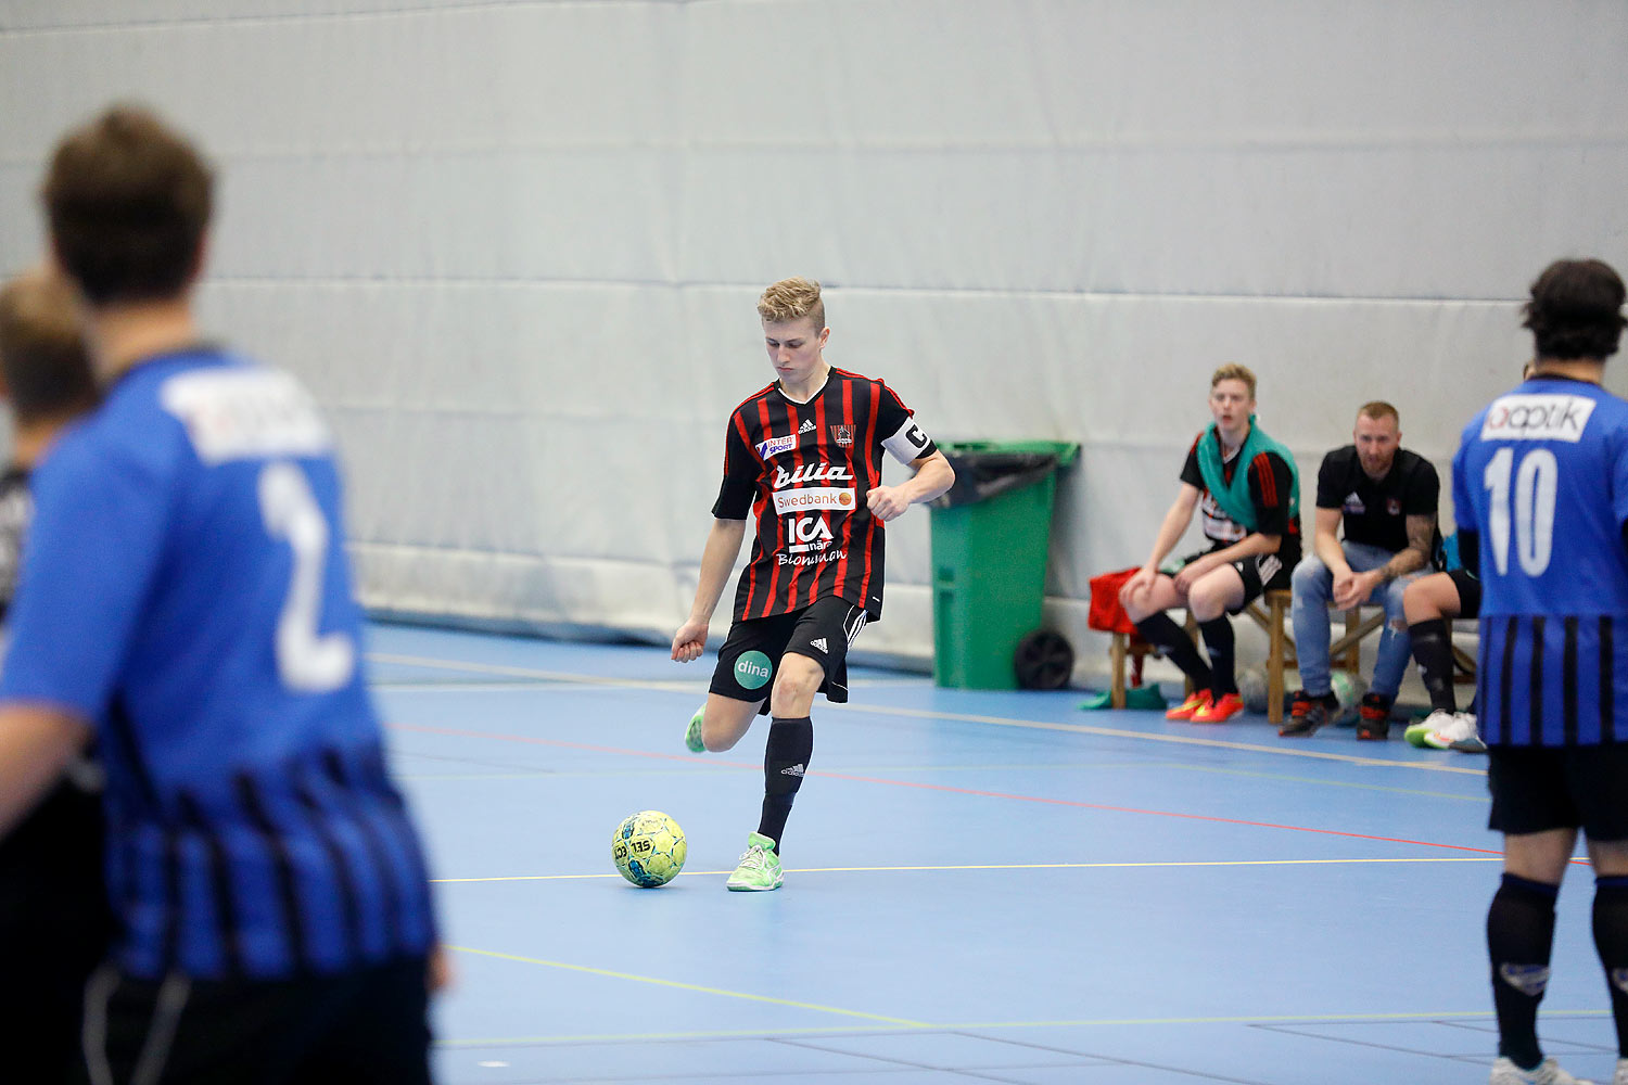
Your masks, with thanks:
[[[430,1085],[425,960],[295,979],[132,979],[85,989],[80,1085]]]

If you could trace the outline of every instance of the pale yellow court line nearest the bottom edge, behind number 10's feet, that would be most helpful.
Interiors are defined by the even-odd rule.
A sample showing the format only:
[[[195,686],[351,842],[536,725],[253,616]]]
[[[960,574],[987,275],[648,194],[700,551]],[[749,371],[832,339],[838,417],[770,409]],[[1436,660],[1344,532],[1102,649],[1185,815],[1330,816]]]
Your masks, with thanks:
[[[1543,1010],[1545,1018],[1560,1017],[1608,1017],[1610,1010]],[[1444,1010],[1429,1013],[1284,1013],[1267,1017],[1092,1017],[1060,1022],[946,1022],[943,1025],[912,1025],[913,1031],[962,1031],[996,1028],[1123,1028],[1130,1025],[1348,1025],[1359,1022],[1473,1022],[1491,1020],[1491,1010]],[[638,1043],[653,1039],[741,1039],[749,1036],[830,1036],[858,1033],[887,1033],[884,1025],[850,1025],[819,1028],[731,1028],[695,1030],[687,1033],[583,1033],[563,1036],[493,1036],[472,1039],[438,1039],[438,1048],[505,1048],[524,1044],[565,1043]]]

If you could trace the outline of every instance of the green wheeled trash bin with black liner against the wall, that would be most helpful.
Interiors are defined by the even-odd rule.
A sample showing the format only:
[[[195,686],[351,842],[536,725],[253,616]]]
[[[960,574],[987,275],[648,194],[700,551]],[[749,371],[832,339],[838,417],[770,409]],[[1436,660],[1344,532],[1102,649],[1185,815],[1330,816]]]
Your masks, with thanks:
[[[939,442],[954,488],[933,504],[933,682],[1016,690],[1014,656],[1057,652],[1035,639],[1045,602],[1057,470],[1079,455],[1065,441]],[[1066,641],[1061,649],[1071,651]],[[1055,662],[1055,660],[1053,660]]]

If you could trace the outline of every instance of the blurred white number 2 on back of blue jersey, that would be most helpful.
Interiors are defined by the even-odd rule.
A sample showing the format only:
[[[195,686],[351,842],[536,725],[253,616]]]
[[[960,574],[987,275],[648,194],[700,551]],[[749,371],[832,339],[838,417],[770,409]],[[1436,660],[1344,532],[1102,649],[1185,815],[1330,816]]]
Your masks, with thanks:
[[[288,462],[260,472],[260,517],[272,538],[295,551],[293,576],[277,618],[277,672],[296,693],[329,693],[350,682],[357,646],[344,633],[317,634],[329,529],[304,472]]]

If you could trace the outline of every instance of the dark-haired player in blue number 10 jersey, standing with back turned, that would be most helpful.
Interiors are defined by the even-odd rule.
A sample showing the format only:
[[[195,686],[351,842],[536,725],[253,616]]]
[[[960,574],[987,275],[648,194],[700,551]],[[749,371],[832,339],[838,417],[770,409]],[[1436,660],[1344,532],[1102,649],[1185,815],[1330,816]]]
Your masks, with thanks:
[[[1493,1085],[1574,1082],[1537,1041],[1555,898],[1581,830],[1594,943],[1628,1085],[1628,403],[1600,387],[1623,281],[1558,260],[1532,283],[1532,376],[1464,429],[1452,460],[1464,564],[1481,579],[1478,699],[1504,875],[1486,914]]]

